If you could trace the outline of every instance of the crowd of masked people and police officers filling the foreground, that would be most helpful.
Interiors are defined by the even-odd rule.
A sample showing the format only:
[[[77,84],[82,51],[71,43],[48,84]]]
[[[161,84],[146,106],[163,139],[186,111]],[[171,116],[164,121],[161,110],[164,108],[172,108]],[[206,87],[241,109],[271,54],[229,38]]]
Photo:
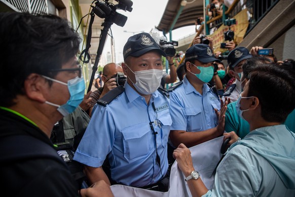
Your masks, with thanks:
[[[0,26],[4,193],[113,196],[114,184],[167,191],[176,159],[193,196],[295,195],[293,59],[228,43],[222,61],[200,37],[177,59],[141,32],[85,94],[80,38],[66,20],[1,13]],[[228,151],[208,190],[189,147],[221,136]]]

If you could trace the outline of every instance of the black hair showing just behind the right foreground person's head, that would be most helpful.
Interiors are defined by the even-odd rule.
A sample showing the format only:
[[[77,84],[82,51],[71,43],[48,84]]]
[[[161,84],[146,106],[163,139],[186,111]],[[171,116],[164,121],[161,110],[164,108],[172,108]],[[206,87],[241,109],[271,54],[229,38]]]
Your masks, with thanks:
[[[249,79],[249,73],[260,64],[271,63],[271,60],[264,56],[253,56],[243,64],[243,73],[246,79]]]

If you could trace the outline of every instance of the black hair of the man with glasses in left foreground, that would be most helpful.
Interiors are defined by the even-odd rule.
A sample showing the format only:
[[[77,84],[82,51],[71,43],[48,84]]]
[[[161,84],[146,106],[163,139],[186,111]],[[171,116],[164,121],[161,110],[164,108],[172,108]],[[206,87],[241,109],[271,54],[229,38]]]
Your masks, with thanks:
[[[0,13],[0,106],[14,105],[24,94],[24,81],[32,73],[54,78],[50,69],[60,69],[74,57],[80,38],[69,22],[58,16]]]

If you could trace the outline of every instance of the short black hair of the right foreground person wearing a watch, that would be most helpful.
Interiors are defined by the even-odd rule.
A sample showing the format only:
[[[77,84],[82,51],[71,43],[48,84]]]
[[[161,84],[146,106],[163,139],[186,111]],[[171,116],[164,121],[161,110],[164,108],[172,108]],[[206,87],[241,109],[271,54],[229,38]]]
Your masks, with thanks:
[[[249,74],[248,95],[256,96],[262,118],[284,122],[295,108],[295,74],[275,63],[259,64]]]

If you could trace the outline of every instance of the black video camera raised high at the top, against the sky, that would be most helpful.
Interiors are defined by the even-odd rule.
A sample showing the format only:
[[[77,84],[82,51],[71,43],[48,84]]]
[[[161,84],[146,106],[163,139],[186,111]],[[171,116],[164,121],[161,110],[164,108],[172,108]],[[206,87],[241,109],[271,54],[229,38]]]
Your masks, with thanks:
[[[127,21],[127,16],[116,12],[116,10],[121,9],[131,12],[133,3],[130,0],[116,0],[116,2],[119,2],[117,5],[108,3],[108,0],[104,2],[97,1],[95,6],[91,6],[93,8],[92,12],[100,18],[108,18],[109,21],[123,27]]]

